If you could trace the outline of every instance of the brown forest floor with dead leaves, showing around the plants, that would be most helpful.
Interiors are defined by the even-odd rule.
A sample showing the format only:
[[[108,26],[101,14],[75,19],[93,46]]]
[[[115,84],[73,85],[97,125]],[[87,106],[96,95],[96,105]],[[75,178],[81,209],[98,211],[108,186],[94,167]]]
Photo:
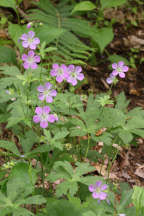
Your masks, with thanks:
[[[24,1],[24,9],[28,7],[28,1]],[[125,79],[121,79],[116,87],[113,87],[113,95],[124,91],[130,100],[129,108],[140,106],[144,108],[144,13],[141,6],[136,5],[137,12],[131,8],[110,9],[105,12],[105,19],[116,18],[119,20],[114,25],[114,40],[107,46],[103,54],[96,54],[96,63],[88,62],[86,76],[88,84],[82,86],[83,92],[97,93],[106,92],[109,89],[106,78],[109,76],[109,54],[117,54],[130,59],[129,71]],[[6,11],[4,13],[10,13]],[[5,29],[0,30],[0,37],[7,37]],[[108,71],[108,72],[107,72]],[[10,130],[1,124],[1,139],[12,137]],[[1,157],[0,164],[5,158]],[[101,164],[94,164],[96,171],[100,173]],[[101,170],[101,175],[106,175],[107,158]],[[110,170],[110,179],[124,181],[130,185],[144,186],[144,139],[138,138],[137,144],[129,148],[121,148],[117,159]]]

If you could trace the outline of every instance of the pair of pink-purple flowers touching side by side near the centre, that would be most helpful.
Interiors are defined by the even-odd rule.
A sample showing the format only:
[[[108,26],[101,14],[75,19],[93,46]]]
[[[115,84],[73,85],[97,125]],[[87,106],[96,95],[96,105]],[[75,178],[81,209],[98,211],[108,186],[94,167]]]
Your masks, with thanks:
[[[81,72],[82,68],[80,66],[66,66],[64,64],[59,66],[58,64],[53,64],[50,75],[55,76],[58,83],[66,80],[68,83],[71,83],[73,86],[75,86],[77,85],[77,80],[81,81],[84,79],[84,74]]]

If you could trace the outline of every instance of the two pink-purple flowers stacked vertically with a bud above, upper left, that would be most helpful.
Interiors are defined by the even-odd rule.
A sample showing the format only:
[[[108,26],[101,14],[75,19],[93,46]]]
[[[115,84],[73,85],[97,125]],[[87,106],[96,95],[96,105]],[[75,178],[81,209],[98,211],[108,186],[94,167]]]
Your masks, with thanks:
[[[27,24],[27,28],[31,28],[31,23]],[[37,48],[37,45],[40,43],[40,39],[35,37],[35,32],[29,31],[28,34],[22,34],[20,40],[22,41],[22,46],[29,49],[28,54],[22,55],[23,67],[25,69],[36,69],[37,63],[40,62],[40,56],[35,55],[33,50]]]

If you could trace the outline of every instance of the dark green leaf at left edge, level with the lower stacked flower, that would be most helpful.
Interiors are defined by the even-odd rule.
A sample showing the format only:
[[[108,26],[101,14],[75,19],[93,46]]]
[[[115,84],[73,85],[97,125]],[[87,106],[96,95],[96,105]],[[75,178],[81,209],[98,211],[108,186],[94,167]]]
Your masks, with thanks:
[[[6,46],[0,46],[0,63],[16,64],[16,52]]]

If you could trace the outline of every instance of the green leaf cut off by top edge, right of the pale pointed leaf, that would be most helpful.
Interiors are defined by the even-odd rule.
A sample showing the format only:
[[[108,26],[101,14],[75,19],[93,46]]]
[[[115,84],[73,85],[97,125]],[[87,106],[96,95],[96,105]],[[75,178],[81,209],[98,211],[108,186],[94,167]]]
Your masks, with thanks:
[[[118,7],[125,4],[127,0],[100,0],[101,9]]]

